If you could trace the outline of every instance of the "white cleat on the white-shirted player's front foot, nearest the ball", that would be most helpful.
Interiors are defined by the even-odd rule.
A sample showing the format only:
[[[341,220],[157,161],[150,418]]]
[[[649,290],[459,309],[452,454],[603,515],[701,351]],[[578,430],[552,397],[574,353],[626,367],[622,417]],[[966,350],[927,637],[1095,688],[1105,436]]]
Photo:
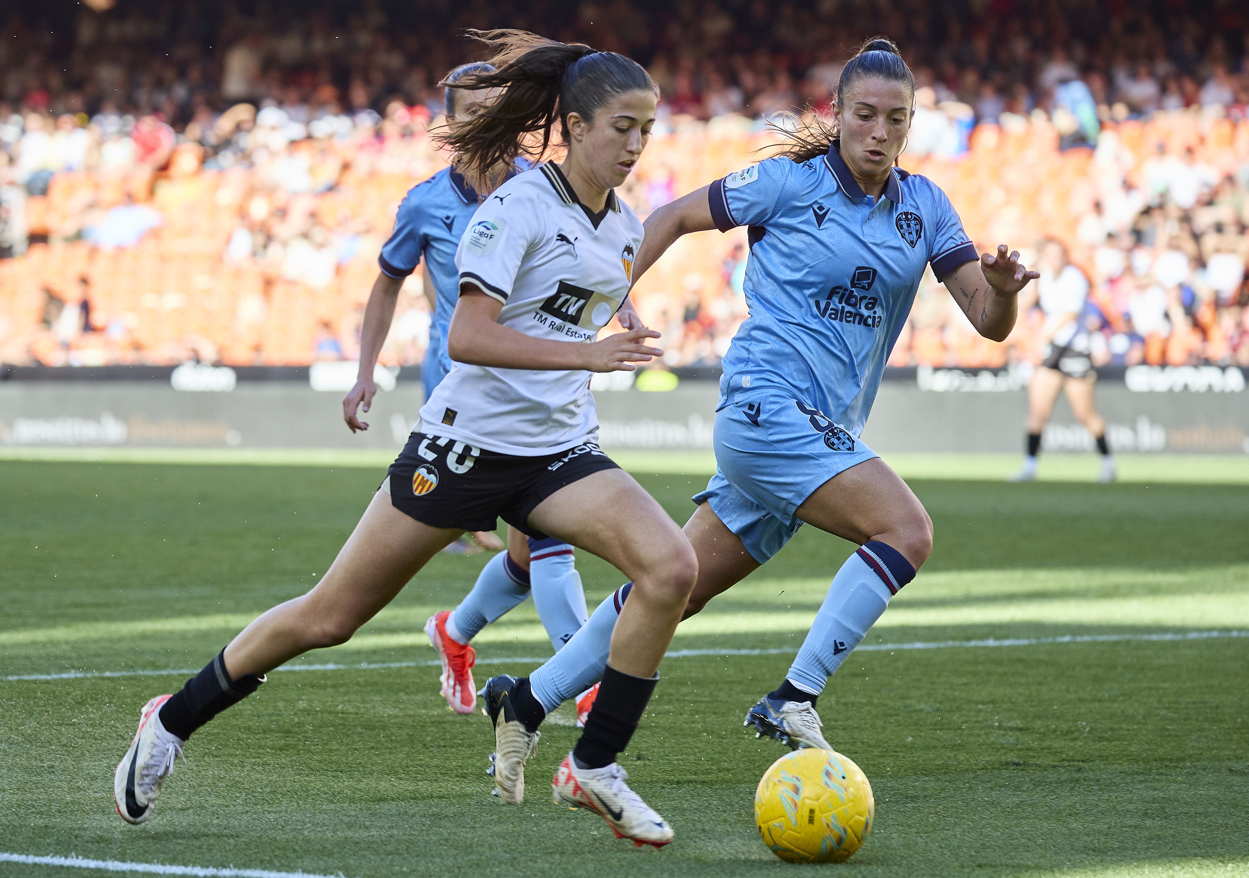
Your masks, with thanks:
[[[556,804],[590,808],[602,817],[616,838],[627,838],[638,848],[662,848],[672,841],[672,827],[629,789],[627,779],[615,762],[605,768],[577,768],[570,753],[556,769],[551,791]]]

